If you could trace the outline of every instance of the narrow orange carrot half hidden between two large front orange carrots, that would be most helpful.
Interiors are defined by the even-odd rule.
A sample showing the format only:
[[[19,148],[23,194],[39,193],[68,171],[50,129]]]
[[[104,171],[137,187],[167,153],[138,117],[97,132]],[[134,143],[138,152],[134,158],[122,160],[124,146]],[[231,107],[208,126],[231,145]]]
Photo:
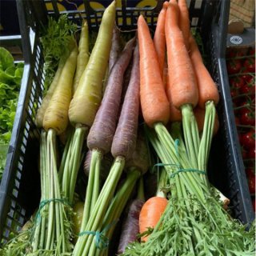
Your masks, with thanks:
[[[158,54],[158,62],[162,76],[162,70],[164,67],[165,56],[166,56],[166,34],[165,34],[165,20],[166,20],[166,9],[168,2],[164,2],[162,10],[158,15],[158,23],[154,33],[154,49]]]

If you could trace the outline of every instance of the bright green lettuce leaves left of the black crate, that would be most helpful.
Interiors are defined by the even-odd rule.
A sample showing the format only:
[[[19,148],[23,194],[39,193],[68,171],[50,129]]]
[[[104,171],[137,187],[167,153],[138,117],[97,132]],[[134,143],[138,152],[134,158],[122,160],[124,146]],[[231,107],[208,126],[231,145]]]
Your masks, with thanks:
[[[23,63],[14,64],[10,52],[0,47],[0,180],[6,164],[23,67]]]

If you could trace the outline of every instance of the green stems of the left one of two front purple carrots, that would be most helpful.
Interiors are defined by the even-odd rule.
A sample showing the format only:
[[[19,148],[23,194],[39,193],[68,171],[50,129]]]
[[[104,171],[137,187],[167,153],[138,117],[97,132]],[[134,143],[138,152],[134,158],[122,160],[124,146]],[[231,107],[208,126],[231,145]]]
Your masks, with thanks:
[[[85,201],[85,206],[84,206],[83,215],[82,215],[81,231],[85,230],[86,224],[90,218],[90,212],[91,212],[90,207],[95,205],[95,202],[94,203],[92,202],[92,198],[94,194],[94,180],[95,178],[97,178],[96,177],[96,172],[98,172],[98,170],[96,171],[96,166],[98,166],[97,162],[101,162],[101,159],[102,159],[101,151],[92,150],[91,160],[90,160],[90,172],[89,172],[89,178],[88,178],[88,183],[86,187],[86,201]]]

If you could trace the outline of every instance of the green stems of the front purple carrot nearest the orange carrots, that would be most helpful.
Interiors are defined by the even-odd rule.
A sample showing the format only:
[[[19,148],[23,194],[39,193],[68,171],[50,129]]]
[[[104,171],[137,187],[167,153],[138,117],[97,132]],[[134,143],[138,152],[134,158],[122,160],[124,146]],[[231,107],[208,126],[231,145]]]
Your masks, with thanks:
[[[113,166],[110,169],[110,174],[106,178],[106,182],[102,187],[101,193],[95,203],[94,210],[90,216],[89,222],[86,225],[86,231],[97,231],[98,226],[102,225],[103,217],[106,214],[107,206],[114,194],[114,190],[118,184],[118,180],[125,166],[125,158],[118,157],[115,159]],[[82,231],[85,231],[82,230]],[[78,238],[78,242],[74,246],[74,255],[87,255],[93,242],[94,235],[84,234]]]

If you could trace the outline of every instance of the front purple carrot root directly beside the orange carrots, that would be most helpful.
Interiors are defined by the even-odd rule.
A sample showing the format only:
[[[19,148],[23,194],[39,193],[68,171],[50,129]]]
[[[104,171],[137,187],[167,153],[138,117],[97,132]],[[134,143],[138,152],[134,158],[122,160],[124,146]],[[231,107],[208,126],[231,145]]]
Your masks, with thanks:
[[[130,158],[136,146],[139,110],[139,54],[138,45],[134,50],[133,69],[129,86],[122,104],[121,114],[115,131],[111,153],[114,158]]]

